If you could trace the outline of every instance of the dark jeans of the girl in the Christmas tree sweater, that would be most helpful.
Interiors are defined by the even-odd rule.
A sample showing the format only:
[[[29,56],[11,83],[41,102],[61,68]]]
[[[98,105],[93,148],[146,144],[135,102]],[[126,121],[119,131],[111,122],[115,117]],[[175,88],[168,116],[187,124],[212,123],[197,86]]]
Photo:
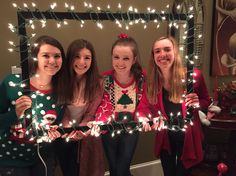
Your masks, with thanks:
[[[102,135],[104,151],[109,164],[110,176],[131,176],[130,164],[138,141],[138,132],[122,133],[111,137]]]

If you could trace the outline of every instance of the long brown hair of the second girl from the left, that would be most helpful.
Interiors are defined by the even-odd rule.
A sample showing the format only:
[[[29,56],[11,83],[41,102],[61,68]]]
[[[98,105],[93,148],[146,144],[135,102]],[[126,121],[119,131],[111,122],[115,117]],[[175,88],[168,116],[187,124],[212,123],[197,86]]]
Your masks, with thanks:
[[[80,80],[77,79],[73,69],[75,56],[82,49],[88,49],[92,54],[92,62],[87,72],[82,75]],[[75,98],[75,91],[83,89],[84,102],[92,101],[97,91],[101,90],[101,76],[99,75],[96,54],[93,45],[84,39],[74,40],[67,49],[66,63],[61,75],[61,93],[58,95],[60,104],[68,104]],[[81,85],[85,84],[84,87]]]

